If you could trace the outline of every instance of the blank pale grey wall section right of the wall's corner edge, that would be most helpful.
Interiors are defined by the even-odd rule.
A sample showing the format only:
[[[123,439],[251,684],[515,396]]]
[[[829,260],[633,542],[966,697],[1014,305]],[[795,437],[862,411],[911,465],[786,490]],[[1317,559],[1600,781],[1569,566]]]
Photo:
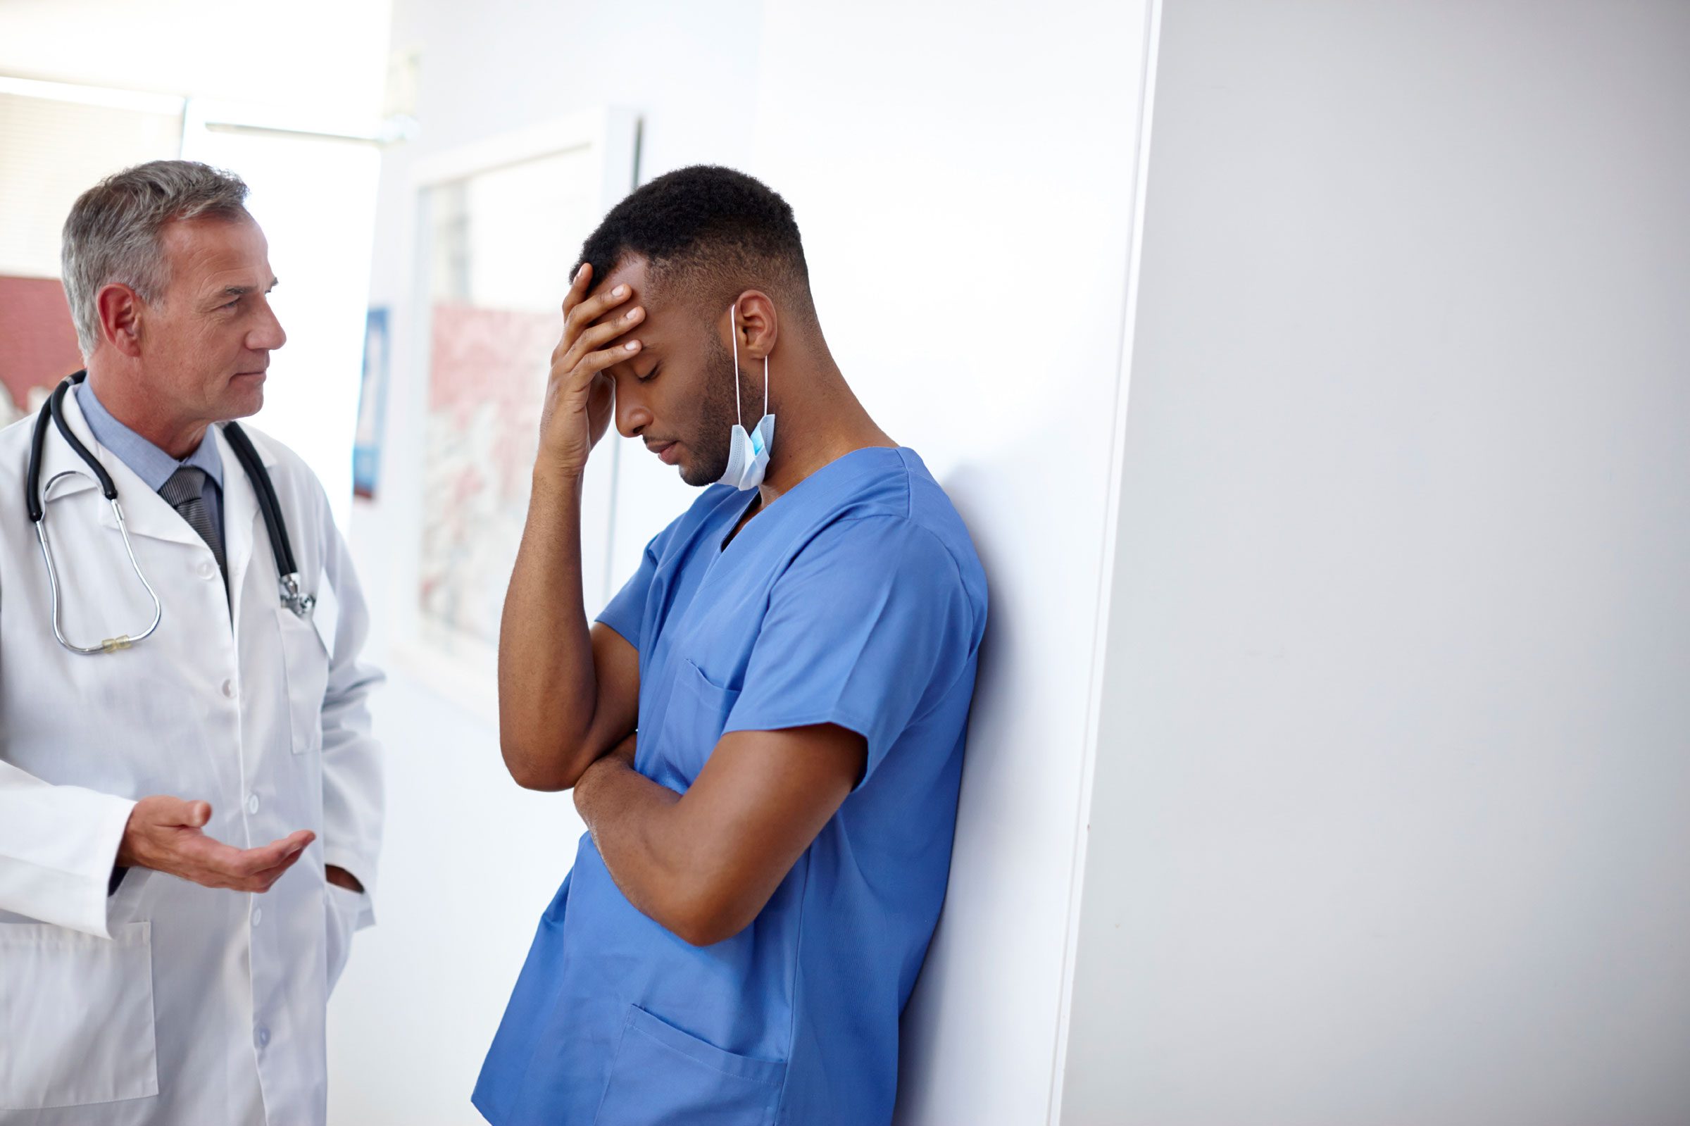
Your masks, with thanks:
[[[1687,57],[1166,5],[1063,1123],[1690,1119]]]

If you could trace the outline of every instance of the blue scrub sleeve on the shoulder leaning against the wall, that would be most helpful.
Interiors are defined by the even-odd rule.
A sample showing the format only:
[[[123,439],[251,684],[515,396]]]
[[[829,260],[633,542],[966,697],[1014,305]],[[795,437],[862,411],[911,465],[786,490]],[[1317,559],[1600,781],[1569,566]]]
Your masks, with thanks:
[[[864,778],[973,659],[962,573],[902,517],[840,521],[774,583],[725,730],[838,724],[869,744]]]

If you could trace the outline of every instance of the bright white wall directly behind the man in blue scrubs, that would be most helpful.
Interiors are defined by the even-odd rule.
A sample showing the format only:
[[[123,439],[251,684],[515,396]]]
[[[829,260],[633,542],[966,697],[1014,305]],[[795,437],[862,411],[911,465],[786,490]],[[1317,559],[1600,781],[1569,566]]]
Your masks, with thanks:
[[[747,0],[630,17],[495,0],[475,20],[444,0],[395,7],[394,46],[422,49],[424,134],[384,169],[375,301],[409,292],[407,162],[548,115],[635,108],[644,179],[723,162],[794,205],[847,379],[973,529],[992,629],[950,898],[906,1019],[902,1123],[1038,1123],[1053,1094],[1144,24],[1142,3]],[[390,605],[414,588],[406,316],[384,495],[353,522]],[[627,453],[622,570],[691,495]],[[384,915],[331,1006],[331,1101],[336,1121],[463,1123],[578,822],[566,795],[504,778],[488,727],[399,680],[379,712],[394,774]]]

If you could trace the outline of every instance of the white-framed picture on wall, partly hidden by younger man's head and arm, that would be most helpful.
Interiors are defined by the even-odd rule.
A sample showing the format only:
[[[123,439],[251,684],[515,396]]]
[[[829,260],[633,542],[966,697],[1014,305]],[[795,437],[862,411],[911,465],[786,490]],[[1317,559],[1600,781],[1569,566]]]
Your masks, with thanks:
[[[505,585],[527,517],[551,352],[588,233],[635,183],[637,118],[605,110],[419,166],[414,353],[421,411],[414,644],[436,690],[497,717]],[[610,597],[615,445],[586,477],[586,610]]]

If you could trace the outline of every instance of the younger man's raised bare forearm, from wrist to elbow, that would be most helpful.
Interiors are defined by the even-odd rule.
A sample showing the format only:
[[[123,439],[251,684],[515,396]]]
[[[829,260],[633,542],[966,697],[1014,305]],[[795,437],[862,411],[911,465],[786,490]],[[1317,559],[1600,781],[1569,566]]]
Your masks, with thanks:
[[[581,599],[581,480],[536,473],[499,627],[499,742],[517,781],[561,790],[580,776],[592,763],[585,742],[597,695]]]

